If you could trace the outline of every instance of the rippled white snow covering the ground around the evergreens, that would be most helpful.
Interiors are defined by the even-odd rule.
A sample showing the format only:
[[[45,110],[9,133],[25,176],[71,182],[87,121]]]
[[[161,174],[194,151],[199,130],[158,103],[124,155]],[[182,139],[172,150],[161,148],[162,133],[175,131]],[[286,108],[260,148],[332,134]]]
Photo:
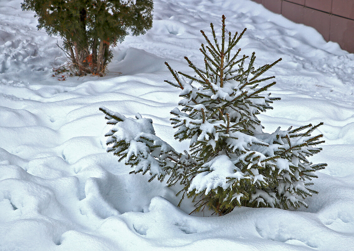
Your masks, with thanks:
[[[354,54],[250,0],[154,3],[153,29],[114,48],[107,76],[58,81],[57,38],[37,31],[21,0],[0,1],[0,250],[354,250]],[[326,143],[310,160],[328,167],[308,209],[188,215],[178,188],[129,175],[105,151],[100,106],[152,118],[156,135],[188,147],[173,141],[179,91],[163,82],[164,61],[192,73],[183,56],[202,64],[199,30],[219,31],[222,14],[230,31],[248,29],[239,46],[256,51],[257,65],[283,58],[269,71],[282,100],[258,116],[264,131],[324,122],[315,133]]]

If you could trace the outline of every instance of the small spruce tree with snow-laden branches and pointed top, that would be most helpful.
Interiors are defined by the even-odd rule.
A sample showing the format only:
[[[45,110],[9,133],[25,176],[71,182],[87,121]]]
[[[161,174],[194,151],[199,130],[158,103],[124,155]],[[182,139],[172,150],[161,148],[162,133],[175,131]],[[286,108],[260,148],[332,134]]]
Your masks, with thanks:
[[[267,83],[274,76],[261,76],[281,59],[255,68],[255,53],[240,56],[238,49],[232,54],[246,29],[239,35],[227,33],[223,16],[219,42],[210,26],[212,40],[201,31],[204,68],[185,57],[195,76],[165,63],[175,79],[166,82],[181,89],[183,97],[178,103],[182,109],[171,111],[175,139],[189,140],[189,153],[178,153],[157,137],[152,120],[139,114],[125,118],[101,107],[114,125],[106,135],[108,151],[134,167],[132,173],[149,172],[150,180],[169,177],[167,185],[182,185],[178,194],[192,198],[196,211],[209,207],[222,215],[240,206],[307,207],[304,199],[317,193],[309,188],[314,172],[326,166],[307,160],[321,151],[315,146],[323,142],[322,135],[311,133],[322,123],[264,133],[257,115],[280,98],[265,93],[275,84]]]

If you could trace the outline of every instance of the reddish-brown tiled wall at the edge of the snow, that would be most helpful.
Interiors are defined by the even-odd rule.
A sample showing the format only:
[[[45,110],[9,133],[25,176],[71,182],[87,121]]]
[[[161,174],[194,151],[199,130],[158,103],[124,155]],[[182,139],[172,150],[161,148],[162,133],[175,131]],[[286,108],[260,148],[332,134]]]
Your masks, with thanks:
[[[354,0],[253,0],[354,53]]]

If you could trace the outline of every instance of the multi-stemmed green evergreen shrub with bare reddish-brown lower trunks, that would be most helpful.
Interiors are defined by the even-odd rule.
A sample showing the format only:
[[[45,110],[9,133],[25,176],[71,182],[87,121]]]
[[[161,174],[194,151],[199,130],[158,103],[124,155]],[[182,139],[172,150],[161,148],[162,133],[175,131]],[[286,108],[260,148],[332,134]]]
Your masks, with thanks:
[[[35,11],[38,29],[63,38],[63,50],[78,76],[103,76],[112,59],[109,47],[129,31],[145,34],[153,22],[153,0],[24,0],[22,10]]]

